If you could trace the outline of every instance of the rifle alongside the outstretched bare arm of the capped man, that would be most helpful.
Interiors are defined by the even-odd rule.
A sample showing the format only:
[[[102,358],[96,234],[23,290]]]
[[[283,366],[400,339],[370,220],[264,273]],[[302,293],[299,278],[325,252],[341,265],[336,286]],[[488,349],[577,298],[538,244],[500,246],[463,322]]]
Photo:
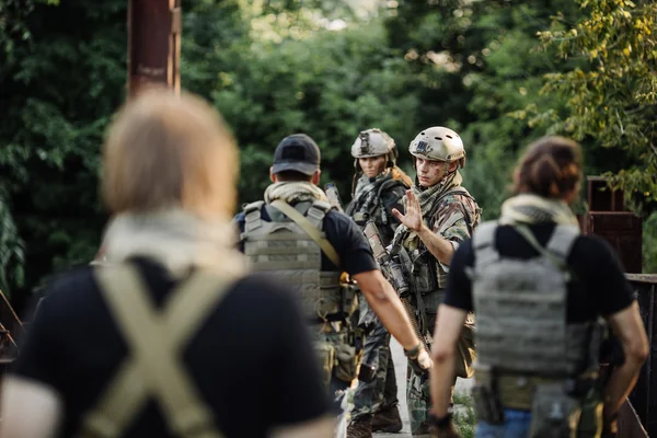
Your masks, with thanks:
[[[400,262],[399,254],[390,255],[388,253],[388,251],[383,246],[383,243],[381,242],[381,234],[379,234],[379,229],[372,220],[369,220],[367,222],[364,231],[372,249],[372,252],[374,253],[374,258],[381,267],[383,276],[385,277],[385,279],[388,279],[388,281],[390,281],[394,290],[396,290],[397,295],[400,296],[402,304],[404,306],[404,310],[406,311],[406,314],[411,320],[411,325],[413,326],[415,335],[423,343],[427,353],[430,353],[433,341],[431,334],[422,333],[422,331],[419,330],[419,324],[417,322],[415,310],[413,309],[413,306],[411,306],[411,303],[408,302],[408,295],[411,292],[411,289],[408,288],[408,283],[406,281],[403,264]]]

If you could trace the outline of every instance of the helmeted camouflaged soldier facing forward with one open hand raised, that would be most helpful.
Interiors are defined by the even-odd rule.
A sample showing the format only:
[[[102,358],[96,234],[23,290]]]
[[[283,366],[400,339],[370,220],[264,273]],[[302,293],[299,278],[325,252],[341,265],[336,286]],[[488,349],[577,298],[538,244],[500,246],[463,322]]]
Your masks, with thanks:
[[[425,338],[430,339],[451,257],[460,242],[472,235],[480,222],[481,209],[461,187],[458,169],[465,164],[465,150],[457,132],[445,127],[425,129],[411,142],[408,150],[414,157],[417,176],[403,199],[405,215],[393,210],[402,224],[395,231],[391,253],[399,254],[404,264],[411,285],[410,302]],[[458,350],[456,372],[451,378],[453,383],[457,377],[469,378],[473,373],[471,322],[463,327]],[[408,372],[406,394],[412,434],[427,435],[428,376]]]

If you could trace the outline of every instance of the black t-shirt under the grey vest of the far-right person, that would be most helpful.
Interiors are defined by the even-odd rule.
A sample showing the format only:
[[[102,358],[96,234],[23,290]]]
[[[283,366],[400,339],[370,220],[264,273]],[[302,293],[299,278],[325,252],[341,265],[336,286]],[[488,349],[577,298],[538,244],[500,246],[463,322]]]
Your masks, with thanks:
[[[548,244],[554,224],[541,223],[529,227],[542,246]],[[539,253],[510,226],[500,226],[495,234],[496,249],[502,256],[528,260]],[[472,241],[461,243],[450,265],[445,303],[472,311],[472,283],[466,267],[476,263]],[[566,263],[574,274],[568,283],[567,320],[585,322],[598,315],[611,315],[632,301],[630,283],[611,246],[597,237],[580,235],[573,244]]]

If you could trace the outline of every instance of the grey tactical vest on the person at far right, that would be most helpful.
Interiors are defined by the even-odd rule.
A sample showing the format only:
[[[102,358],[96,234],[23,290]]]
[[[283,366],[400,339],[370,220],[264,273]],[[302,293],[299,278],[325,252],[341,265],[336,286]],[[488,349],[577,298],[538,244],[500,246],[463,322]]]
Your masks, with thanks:
[[[576,226],[556,226],[545,250],[520,260],[502,257],[495,247],[495,222],[473,237],[479,359],[520,373],[572,377],[588,357],[590,324],[566,323],[566,258],[579,235]]]

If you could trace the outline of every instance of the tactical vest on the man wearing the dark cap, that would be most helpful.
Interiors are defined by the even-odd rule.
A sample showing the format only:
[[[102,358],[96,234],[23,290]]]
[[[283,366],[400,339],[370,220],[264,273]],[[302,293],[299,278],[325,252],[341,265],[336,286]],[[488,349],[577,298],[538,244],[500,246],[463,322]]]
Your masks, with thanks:
[[[314,200],[293,207],[325,237],[322,228],[331,204]],[[263,220],[263,208],[270,221]],[[342,319],[353,312],[354,297],[343,296],[341,272],[322,272],[322,250],[301,227],[264,201],[246,205],[244,214],[241,239],[253,270],[276,275],[297,290],[310,320]]]

